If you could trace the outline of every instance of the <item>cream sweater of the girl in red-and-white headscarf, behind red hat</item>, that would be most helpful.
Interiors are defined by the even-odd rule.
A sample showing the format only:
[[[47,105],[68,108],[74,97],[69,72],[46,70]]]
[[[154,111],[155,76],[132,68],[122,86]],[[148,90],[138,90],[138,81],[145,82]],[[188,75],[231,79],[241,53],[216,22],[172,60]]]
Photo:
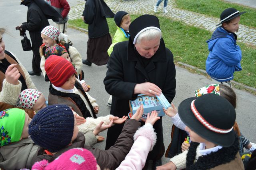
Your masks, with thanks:
[[[75,65],[77,74],[80,74],[83,67],[82,57],[80,53],[73,46],[69,46],[68,52],[69,52],[70,58],[72,59],[72,63]],[[45,70],[44,70],[45,60],[46,59],[44,58],[44,56],[41,56],[40,68],[42,70],[42,73],[44,74],[44,77],[45,77]]]

